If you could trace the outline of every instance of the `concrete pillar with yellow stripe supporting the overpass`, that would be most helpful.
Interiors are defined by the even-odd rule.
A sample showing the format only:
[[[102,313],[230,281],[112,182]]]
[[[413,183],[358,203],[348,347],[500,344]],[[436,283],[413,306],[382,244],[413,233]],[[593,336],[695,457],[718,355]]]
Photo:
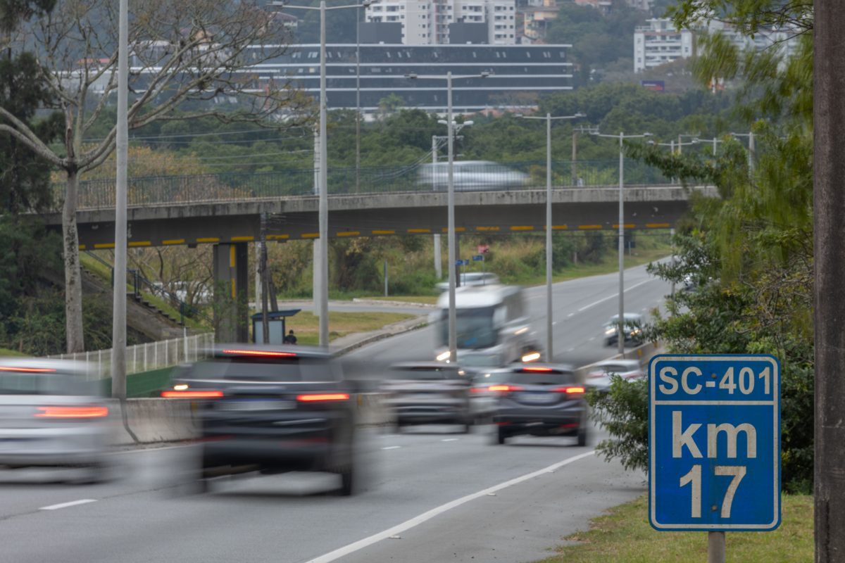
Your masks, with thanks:
[[[249,340],[248,243],[214,246],[214,323],[217,342]]]

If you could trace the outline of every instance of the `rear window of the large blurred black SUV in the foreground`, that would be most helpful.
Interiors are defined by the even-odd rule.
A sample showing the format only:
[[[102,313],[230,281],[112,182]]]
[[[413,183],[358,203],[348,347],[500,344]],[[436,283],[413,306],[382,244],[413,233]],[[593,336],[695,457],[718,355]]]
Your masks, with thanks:
[[[325,382],[340,379],[322,358],[215,358],[194,365],[192,377],[272,382]]]

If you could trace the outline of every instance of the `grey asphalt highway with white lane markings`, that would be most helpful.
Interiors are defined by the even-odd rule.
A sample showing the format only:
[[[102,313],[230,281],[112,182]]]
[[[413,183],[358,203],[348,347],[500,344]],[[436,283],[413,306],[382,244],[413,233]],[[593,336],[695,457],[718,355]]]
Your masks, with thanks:
[[[626,286],[627,311],[668,293],[644,268],[630,270]],[[529,290],[532,313],[543,310],[542,291]],[[556,359],[580,364],[611,351],[601,326],[615,295],[612,275],[556,286]],[[432,338],[423,329],[354,354],[377,364],[428,358]],[[365,430],[368,485],[352,497],[326,495],[336,481],[329,474],[225,478],[208,495],[185,495],[192,447],[117,452],[123,479],[104,485],[54,482],[72,477],[68,470],[0,472],[0,562],[521,563],[644,490],[644,474],[573,438],[494,446],[488,427],[453,430]],[[591,436],[591,444],[602,437]]]

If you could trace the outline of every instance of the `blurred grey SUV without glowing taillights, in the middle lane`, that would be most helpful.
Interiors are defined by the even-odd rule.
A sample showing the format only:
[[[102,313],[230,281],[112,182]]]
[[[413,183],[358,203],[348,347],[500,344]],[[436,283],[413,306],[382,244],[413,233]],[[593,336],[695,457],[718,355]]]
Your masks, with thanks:
[[[395,415],[396,430],[405,425],[454,424],[468,432],[471,378],[454,364],[405,362],[390,366],[381,385],[384,406]]]

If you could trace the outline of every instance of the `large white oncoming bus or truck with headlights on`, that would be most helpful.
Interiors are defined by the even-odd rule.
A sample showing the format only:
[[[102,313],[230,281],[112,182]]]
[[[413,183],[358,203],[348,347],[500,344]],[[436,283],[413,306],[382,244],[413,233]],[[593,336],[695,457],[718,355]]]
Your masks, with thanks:
[[[455,290],[455,317],[457,362],[462,366],[499,367],[540,358],[521,287],[459,288]],[[440,295],[433,321],[436,358],[450,361],[448,292]]]

